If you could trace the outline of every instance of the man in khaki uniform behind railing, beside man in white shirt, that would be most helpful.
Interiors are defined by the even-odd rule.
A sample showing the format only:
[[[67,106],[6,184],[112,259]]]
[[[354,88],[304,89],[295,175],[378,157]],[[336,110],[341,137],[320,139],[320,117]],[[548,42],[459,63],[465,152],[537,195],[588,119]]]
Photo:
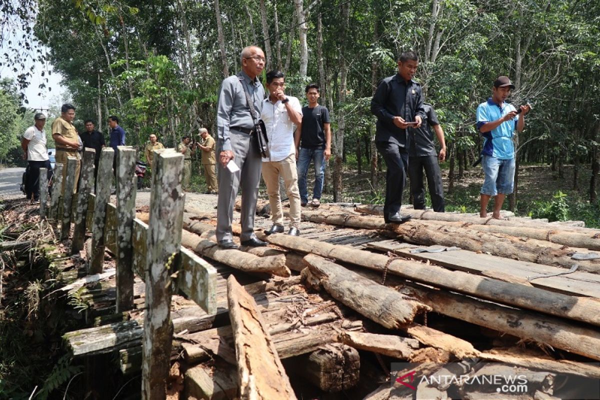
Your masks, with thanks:
[[[79,156],[79,134],[73,125],[75,119],[75,107],[72,104],[63,104],[61,107],[61,116],[52,123],[52,138],[56,142],[56,163],[61,163],[62,182],[67,179],[67,158],[77,158],[77,167],[75,169],[75,182],[79,181],[79,170],[81,160]],[[73,193],[77,192],[77,185],[73,188]],[[62,193],[65,193],[65,186],[62,186]]]

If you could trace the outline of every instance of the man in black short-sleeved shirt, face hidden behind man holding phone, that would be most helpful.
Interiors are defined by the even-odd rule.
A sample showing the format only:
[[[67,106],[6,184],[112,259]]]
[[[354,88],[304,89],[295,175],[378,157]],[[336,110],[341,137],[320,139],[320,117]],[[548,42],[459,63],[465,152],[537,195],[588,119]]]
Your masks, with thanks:
[[[423,187],[423,169],[427,176],[427,186],[431,197],[431,206],[435,212],[444,212],[444,189],[442,185],[442,173],[437,159],[446,160],[446,142],[442,125],[437,121],[436,110],[431,104],[424,104],[425,115],[420,128],[409,128],[409,177],[410,194],[413,197],[413,206],[416,210],[425,209],[425,188]],[[436,145],[433,142],[433,133],[436,133],[437,141],[440,142],[440,153],[436,153]]]

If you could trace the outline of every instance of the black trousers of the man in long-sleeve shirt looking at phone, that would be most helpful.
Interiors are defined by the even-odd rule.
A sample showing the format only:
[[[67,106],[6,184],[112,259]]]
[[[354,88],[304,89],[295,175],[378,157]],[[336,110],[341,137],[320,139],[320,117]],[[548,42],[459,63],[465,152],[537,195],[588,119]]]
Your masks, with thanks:
[[[409,154],[406,148],[397,143],[376,142],[376,146],[388,167],[385,175],[385,204],[383,206],[383,215],[388,218],[389,215],[400,212],[402,206],[402,192],[406,185]]]

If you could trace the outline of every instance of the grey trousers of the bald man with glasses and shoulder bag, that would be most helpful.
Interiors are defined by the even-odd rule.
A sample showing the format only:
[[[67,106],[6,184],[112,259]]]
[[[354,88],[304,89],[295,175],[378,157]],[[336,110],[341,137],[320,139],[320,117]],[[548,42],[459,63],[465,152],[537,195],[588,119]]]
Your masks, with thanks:
[[[242,234],[240,240],[254,237],[254,214],[256,213],[256,199],[259,194],[260,172],[262,158],[256,149],[256,137],[235,130],[230,131],[230,140],[234,154],[233,162],[239,171],[231,173],[221,163],[219,169],[219,197],[217,201],[217,240],[233,239],[231,224],[233,219],[233,206],[238,188],[242,189]],[[217,155],[223,143],[218,142]]]

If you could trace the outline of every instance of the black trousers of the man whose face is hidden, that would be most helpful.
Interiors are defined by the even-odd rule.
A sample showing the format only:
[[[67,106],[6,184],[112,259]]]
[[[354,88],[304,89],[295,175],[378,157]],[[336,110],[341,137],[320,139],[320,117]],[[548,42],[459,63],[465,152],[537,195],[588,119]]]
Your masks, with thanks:
[[[442,173],[434,155],[409,158],[410,194],[413,197],[413,206],[416,210],[425,208],[425,187],[423,185],[423,170],[427,176],[427,186],[431,205],[435,212],[444,212],[444,188]]]

